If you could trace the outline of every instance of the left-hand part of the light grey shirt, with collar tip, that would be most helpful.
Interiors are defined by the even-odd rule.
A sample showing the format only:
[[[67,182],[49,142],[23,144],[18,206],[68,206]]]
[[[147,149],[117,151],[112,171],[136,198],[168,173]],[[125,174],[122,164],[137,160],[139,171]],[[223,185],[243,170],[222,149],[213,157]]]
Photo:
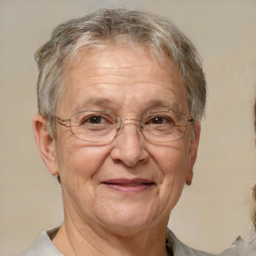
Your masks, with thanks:
[[[59,227],[54,227],[47,231],[42,231],[35,243],[20,256],[63,256],[50,239],[58,229]]]

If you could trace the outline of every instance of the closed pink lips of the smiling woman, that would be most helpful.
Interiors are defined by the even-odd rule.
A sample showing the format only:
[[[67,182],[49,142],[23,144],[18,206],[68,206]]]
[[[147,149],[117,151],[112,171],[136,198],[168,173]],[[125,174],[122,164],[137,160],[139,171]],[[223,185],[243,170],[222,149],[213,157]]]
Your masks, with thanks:
[[[143,178],[108,179],[101,182],[101,184],[104,184],[111,190],[116,190],[123,193],[139,193],[148,189],[152,185],[155,185],[154,182]]]

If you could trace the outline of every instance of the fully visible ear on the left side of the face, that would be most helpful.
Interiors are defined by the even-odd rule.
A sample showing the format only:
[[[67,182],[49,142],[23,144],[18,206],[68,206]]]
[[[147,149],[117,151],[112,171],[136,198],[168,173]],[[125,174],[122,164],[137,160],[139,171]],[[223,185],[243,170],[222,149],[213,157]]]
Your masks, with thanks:
[[[40,114],[36,114],[33,118],[33,130],[35,142],[39,148],[42,160],[49,172],[52,175],[57,175],[55,140],[49,136],[47,121]]]

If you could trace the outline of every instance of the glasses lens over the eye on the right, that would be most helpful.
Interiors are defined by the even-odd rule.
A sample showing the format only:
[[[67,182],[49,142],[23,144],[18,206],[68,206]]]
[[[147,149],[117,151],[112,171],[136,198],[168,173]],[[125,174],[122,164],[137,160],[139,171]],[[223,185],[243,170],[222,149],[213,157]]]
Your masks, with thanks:
[[[142,133],[148,140],[167,142],[184,136],[187,117],[175,112],[156,112],[143,115]]]

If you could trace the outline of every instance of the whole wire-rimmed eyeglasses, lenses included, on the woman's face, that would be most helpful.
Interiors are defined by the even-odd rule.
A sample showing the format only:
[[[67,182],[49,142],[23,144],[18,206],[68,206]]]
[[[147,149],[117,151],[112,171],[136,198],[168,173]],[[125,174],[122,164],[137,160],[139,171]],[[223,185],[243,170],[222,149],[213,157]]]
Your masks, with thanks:
[[[146,113],[141,119],[121,119],[115,113],[94,110],[76,112],[68,119],[55,118],[62,125],[70,122],[72,134],[78,139],[90,142],[114,139],[124,126],[124,121],[138,123],[139,131],[147,140],[169,142],[182,138],[187,122],[194,122],[193,118],[172,111]]]

